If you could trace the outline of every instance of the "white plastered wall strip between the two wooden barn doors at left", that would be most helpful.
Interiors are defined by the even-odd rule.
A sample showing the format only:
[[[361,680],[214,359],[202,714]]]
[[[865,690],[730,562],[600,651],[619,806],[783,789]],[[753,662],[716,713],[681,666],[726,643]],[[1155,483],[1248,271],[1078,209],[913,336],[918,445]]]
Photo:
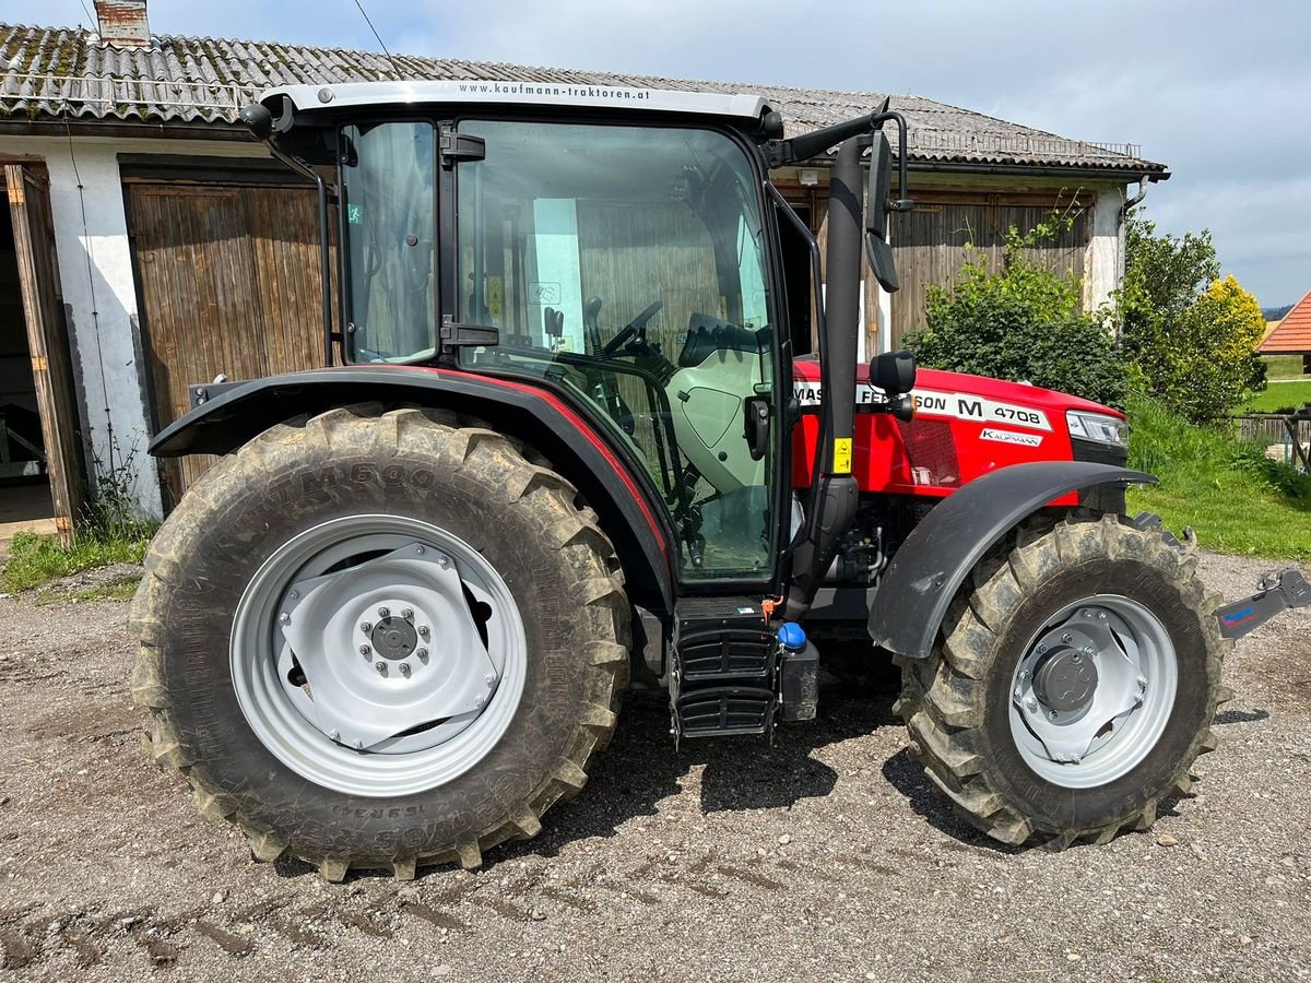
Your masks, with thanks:
[[[79,414],[88,442],[88,474],[94,474],[96,468],[128,467],[140,510],[159,518],[159,472],[146,452],[149,367],[142,359],[119,153],[265,155],[245,143],[73,138],[69,147],[67,138],[0,138],[0,157],[38,157],[50,170],[55,246],[69,315]]]

